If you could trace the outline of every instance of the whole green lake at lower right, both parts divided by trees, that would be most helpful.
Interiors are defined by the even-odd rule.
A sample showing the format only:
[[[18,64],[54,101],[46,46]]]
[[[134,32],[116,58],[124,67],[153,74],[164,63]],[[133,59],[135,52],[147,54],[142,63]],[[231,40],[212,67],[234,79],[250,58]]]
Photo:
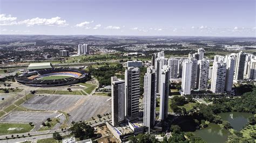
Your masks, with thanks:
[[[219,116],[223,120],[230,122],[234,130],[240,131],[245,124],[248,123],[248,117],[253,116],[244,112],[226,112],[220,113]],[[206,142],[226,142],[228,138],[228,130],[221,128],[218,124],[210,123],[208,127],[193,132],[196,137],[202,138]]]

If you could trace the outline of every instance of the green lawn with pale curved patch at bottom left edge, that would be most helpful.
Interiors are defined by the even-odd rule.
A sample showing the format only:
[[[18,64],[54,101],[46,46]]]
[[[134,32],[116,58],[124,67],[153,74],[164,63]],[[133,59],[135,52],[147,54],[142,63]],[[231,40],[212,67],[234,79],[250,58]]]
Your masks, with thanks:
[[[17,127],[22,128],[21,130],[8,131],[9,128]],[[25,133],[32,130],[33,126],[29,124],[11,124],[11,123],[0,123],[0,134],[14,134],[14,133]]]

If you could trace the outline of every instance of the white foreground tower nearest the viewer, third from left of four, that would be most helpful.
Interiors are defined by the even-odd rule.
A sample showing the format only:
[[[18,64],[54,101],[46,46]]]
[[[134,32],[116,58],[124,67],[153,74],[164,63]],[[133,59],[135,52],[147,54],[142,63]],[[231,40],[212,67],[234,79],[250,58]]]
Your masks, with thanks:
[[[156,121],[157,76],[153,66],[147,68],[144,76],[143,125],[150,128]]]

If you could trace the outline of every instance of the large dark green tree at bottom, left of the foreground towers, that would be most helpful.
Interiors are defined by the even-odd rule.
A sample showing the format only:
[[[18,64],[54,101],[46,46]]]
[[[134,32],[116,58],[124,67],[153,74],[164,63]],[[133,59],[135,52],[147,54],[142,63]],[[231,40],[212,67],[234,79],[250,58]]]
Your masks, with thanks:
[[[80,140],[89,139],[95,136],[94,129],[90,125],[86,125],[84,122],[75,123],[72,127],[69,128],[72,135],[75,135],[76,138]]]

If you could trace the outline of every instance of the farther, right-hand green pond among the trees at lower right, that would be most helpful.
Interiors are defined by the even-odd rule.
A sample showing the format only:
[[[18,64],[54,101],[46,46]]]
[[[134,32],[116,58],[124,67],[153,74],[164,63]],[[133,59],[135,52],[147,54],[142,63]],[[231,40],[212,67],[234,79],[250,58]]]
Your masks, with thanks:
[[[226,112],[219,113],[219,116],[229,121],[234,130],[240,131],[248,123],[247,119],[253,115],[245,112]]]

